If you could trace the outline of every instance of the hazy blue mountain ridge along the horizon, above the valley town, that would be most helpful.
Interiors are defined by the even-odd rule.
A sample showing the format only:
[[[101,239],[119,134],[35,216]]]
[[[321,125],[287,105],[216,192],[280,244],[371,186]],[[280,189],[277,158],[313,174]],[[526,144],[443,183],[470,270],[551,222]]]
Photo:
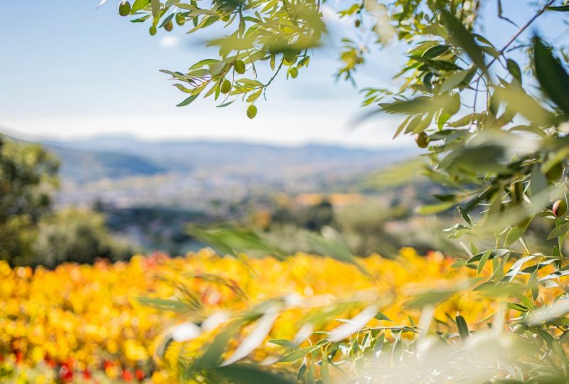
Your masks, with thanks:
[[[65,175],[77,180],[85,164],[80,154],[97,154],[100,171],[92,177],[117,178],[167,172],[230,171],[235,174],[267,174],[279,169],[304,168],[308,173],[339,167],[378,167],[415,153],[413,149],[351,149],[307,144],[298,147],[243,142],[176,140],[147,142],[134,137],[92,137],[70,141],[42,140],[63,159]],[[131,156],[131,157],[129,157]],[[83,159],[86,161],[85,159]],[[113,162],[116,161],[116,164]],[[87,161],[88,162],[88,161]],[[83,164],[83,165],[82,165]],[[65,176],[64,175],[64,176]]]

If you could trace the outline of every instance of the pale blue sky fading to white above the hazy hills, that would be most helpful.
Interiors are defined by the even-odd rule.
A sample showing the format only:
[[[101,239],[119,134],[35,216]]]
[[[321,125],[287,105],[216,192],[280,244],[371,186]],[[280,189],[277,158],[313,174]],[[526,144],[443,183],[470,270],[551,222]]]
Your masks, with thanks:
[[[522,0],[504,0],[506,14],[524,23]],[[488,14],[495,13],[489,1]],[[184,95],[159,69],[186,70],[208,53],[187,28],[160,30],[129,23],[117,15],[117,0],[96,9],[97,0],[31,0],[3,4],[0,16],[0,129],[20,136],[60,138],[93,134],[135,134],[147,139],[174,137],[240,139],[301,144],[332,142],[349,146],[399,145],[391,142],[396,117],[379,117],[358,129],[350,120],[361,112],[357,89],[334,82],[334,46],[316,53],[296,80],[277,80],[254,120],[246,105],[218,109],[213,100],[175,105]],[[341,3],[340,3],[341,4]],[[532,31],[555,36],[560,15],[546,16]],[[331,20],[333,40],[346,27]],[[489,16],[486,29],[500,45],[515,28]],[[390,85],[401,46],[373,55],[358,85]]]

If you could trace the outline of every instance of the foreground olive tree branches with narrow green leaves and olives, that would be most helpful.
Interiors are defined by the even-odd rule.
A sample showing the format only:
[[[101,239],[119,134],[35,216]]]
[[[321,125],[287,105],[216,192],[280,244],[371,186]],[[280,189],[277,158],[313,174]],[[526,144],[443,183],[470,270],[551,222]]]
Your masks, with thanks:
[[[527,37],[542,15],[563,18],[569,6],[563,0],[523,1],[524,6],[534,9],[533,16],[517,27],[504,46],[496,47],[491,36],[484,36],[479,20],[479,11],[487,2],[364,0],[335,5],[334,11],[361,31],[361,35],[356,34],[367,36],[361,39],[363,43],[344,39],[339,77],[353,79],[374,48],[396,39],[407,46],[406,61],[395,76],[397,87],[363,90],[366,117],[380,113],[405,116],[395,137],[415,135],[417,145],[425,149],[421,173],[447,190],[434,196],[435,203],[416,212],[434,215],[458,209],[460,223],[448,228],[447,234],[462,247],[465,257],[454,266],[476,271],[479,278],[418,294],[413,304],[423,311],[410,338],[403,336],[408,331],[404,326],[393,327],[395,331],[389,334],[369,329],[366,324],[379,304],[368,303],[351,321],[324,334],[322,341],[285,357],[285,361],[303,361],[297,380],[334,381],[330,372],[336,368],[344,373],[339,381],[353,383],[569,380],[565,337],[569,333],[565,316],[569,312],[568,289],[561,279],[569,274],[563,249],[569,230],[568,47],[560,39],[563,31],[547,41],[540,36]],[[499,23],[511,23],[502,1],[496,3]],[[208,42],[219,48],[218,58],[201,60],[186,73],[164,72],[189,94],[180,105],[188,105],[202,92],[216,99],[227,95],[222,105],[228,105],[238,97],[249,104],[256,102],[283,67],[290,78],[297,78],[298,69],[307,65],[309,55],[316,52],[312,48],[326,33],[322,6],[320,1],[170,0],[161,4],[158,0],[137,0],[129,13],[137,14],[134,21],[149,19],[153,23],[151,34],[159,26],[171,29],[174,18],[181,25],[193,24],[189,33],[223,24],[230,32]],[[263,60],[267,65],[262,65]],[[261,66],[272,72],[266,82],[256,78]],[[255,113],[251,110],[250,105],[248,116],[252,118],[257,109]],[[412,174],[409,165],[401,171],[403,179]],[[557,240],[557,245],[545,252],[526,241],[527,230],[536,218],[555,226],[545,240]],[[353,262],[345,242],[327,228],[321,237],[311,236],[313,245],[339,260]],[[212,240],[224,242],[225,235],[216,233]],[[260,238],[254,240],[257,249],[265,247]],[[238,250],[230,250],[238,254]],[[543,274],[545,268],[553,270]],[[473,286],[499,297],[504,306],[519,311],[519,316],[506,323],[504,310],[499,309],[491,315],[491,330],[480,334],[471,334],[467,321],[456,316],[450,321],[457,333],[432,334],[433,306]],[[558,296],[542,301],[541,292],[550,290]],[[258,319],[251,331],[258,334],[240,339],[239,358],[262,341],[260,336],[272,326],[275,311],[282,309],[279,303],[275,299],[262,310],[252,307],[244,315],[248,321],[235,319],[237,329],[248,326],[251,318]],[[320,313],[326,317],[325,311]],[[335,314],[327,316],[331,319]],[[233,339],[235,328],[218,334],[193,363],[183,364],[184,377],[216,377],[223,361],[223,348],[219,346]],[[514,328],[516,333],[504,334]],[[334,360],[338,353],[341,366]],[[239,358],[225,361],[223,366],[231,366]]]

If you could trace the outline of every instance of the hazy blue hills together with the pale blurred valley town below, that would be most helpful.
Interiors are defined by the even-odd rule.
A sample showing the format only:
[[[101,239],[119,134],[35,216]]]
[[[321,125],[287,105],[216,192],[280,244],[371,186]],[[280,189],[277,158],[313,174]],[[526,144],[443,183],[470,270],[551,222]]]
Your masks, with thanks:
[[[220,202],[229,215],[252,200],[262,205],[274,193],[361,191],[371,172],[418,153],[416,148],[145,142],[133,137],[38,142],[61,160],[61,206],[160,206],[210,215],[218,214]]]

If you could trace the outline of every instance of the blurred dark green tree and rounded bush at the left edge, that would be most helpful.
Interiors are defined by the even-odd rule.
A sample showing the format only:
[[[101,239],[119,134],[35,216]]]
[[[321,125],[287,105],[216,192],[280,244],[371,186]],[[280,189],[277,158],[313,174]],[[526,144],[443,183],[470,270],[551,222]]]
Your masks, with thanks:
[[[0,135],[0,260],[11,265],[127,260],[134,249],[113,239],[91,210],[53,210],[58,160],[38,144]]]

